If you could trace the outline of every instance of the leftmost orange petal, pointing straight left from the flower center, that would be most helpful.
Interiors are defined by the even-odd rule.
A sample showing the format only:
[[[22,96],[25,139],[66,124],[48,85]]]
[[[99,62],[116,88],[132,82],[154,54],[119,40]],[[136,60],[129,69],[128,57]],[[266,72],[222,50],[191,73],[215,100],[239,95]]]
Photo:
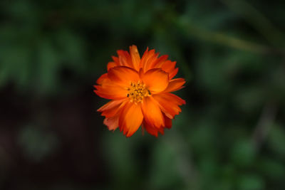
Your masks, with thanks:
[[[114,83],[103,83],[102,85],[94,85],[94,87],[96,88],[94,92],[98,96],[110,100],[120,100],[128,95],[128,90]]]

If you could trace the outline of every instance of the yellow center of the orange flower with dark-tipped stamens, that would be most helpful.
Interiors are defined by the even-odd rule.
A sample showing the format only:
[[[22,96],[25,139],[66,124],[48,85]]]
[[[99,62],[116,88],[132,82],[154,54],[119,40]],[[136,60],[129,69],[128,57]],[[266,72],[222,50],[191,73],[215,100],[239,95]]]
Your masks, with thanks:
[[[142,102],[143,97],[150,96],[150,90],[145,88],[145,84],[140,83],[130,83],[130,88],[128,88],[128,97],[130,97],[131,102]]]

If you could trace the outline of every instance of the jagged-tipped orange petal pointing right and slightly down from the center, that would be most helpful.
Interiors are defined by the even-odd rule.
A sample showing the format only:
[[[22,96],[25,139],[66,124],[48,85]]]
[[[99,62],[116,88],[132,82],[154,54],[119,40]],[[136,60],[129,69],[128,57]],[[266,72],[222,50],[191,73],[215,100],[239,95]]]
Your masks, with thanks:
[[[185,100],[170,93],[160,93],[152,95],[152,97],[159,103],[162,112],[165,112],[165,115],[170,119],[178,115],[181,112],[179,106],[185,104]]]

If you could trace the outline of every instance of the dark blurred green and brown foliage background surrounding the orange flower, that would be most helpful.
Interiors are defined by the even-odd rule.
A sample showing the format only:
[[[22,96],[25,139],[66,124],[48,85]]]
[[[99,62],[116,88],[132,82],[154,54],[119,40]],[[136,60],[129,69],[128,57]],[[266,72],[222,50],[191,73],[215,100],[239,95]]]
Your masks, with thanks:
[[[0,189],[285,189],[285,1],[0,2]],[[118,49],[177,60],[171,130],[109,132]]]

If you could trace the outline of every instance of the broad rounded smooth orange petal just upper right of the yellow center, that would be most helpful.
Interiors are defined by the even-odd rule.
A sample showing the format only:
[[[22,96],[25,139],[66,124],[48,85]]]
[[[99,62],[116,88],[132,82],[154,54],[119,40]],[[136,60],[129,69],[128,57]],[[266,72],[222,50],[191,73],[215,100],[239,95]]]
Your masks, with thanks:
[[[151,70],[148,70],[147,73],[144,73],[141,77],[148,90],[154,93],[160,93],[167,88],[168,74],[160,68],[152,68]]]

